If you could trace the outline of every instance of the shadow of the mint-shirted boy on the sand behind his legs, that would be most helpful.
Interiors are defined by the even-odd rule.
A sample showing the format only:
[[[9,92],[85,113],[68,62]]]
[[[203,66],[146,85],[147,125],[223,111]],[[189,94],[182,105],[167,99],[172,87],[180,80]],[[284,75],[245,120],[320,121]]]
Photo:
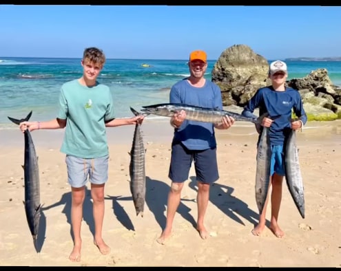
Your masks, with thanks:
[[[70,235],[72,240],[74,240],[74,235],[72,232],[72,224],[71,224],[71,192],[64,193],[61,196],[59,202],[51,204],[50,206],[46,206],[42,208],[42,210],[49,210],[50,208],[54,208],[59,205],[65,205],[62,213],[66,216],[66,221],[70,224]],[[91,191],[85,186],[85,199],[83,202],[83,220],[89,226],[89,230],[94,236],[94,217],[92,216],[92,201],[91,201]]]

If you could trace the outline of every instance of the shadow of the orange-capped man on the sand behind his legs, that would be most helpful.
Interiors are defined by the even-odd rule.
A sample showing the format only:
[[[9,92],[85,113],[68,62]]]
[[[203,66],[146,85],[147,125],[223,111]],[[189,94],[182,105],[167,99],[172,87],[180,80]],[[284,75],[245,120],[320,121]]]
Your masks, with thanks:
[[[170,186],[159,180],[153,180],[146,177],[146,197],[145,202],[149,210],[154,214],[154,217],[160,227],[163,229],[166,225],[165,210],[167,208],[167,197]],[[189,221],[193,227],[196,227],[196,221],[189,214],[192,209],[187,207],[180,201],[178,209],[176,210],[184,219]]]

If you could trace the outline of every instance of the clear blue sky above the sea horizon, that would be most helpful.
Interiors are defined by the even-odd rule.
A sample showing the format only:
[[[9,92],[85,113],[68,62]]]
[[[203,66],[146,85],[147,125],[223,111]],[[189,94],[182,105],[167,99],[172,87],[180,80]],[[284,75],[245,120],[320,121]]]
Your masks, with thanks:
[[[341,7],[0,5],[0,56],[216,60],[245,44],[267,59],[341,56]]]

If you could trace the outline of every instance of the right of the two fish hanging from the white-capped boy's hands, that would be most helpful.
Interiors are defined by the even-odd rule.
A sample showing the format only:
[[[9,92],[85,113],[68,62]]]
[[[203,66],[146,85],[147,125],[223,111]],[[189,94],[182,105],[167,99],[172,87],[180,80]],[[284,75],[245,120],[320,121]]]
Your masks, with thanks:
[[[296,130],[291,130],[285,147],[285,179],[293,202],[304,218],[304,187],[296,147]]]

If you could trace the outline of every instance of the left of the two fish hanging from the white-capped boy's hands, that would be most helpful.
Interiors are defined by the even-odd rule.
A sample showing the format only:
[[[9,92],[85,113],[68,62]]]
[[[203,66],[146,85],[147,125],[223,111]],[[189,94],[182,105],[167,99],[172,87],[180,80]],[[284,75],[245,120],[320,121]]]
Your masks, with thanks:
[[[257,147],[255,192],[259,213],[264,208],[270,183],[271,146],[268,130],[269,128],[263,127]]]

